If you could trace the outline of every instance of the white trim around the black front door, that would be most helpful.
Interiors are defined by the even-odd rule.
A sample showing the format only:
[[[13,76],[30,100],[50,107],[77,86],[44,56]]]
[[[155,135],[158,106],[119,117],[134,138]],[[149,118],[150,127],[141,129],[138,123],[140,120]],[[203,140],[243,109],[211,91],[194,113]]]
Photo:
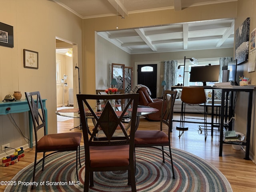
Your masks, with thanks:
[[[138,65],[152,65],[157,64],[157,80],[156,80],[156,96],[160,96],[160,61],[142,61],[134,62],[134,86],[138,84]]]

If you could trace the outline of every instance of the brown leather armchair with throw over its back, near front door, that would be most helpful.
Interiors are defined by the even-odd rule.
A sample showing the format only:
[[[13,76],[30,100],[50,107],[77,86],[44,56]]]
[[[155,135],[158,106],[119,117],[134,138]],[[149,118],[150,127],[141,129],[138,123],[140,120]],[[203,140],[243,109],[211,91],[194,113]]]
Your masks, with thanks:
[[[162,99],[152,99],[148,95],[148,90],[146,87],[139,88],[137,93],[139,94],[139,105],[149,106],[158,109],[159,111],[153,114],[146,115],[145,117],[148,120],[160,121],[161,120],[161,108],[162,108]]]

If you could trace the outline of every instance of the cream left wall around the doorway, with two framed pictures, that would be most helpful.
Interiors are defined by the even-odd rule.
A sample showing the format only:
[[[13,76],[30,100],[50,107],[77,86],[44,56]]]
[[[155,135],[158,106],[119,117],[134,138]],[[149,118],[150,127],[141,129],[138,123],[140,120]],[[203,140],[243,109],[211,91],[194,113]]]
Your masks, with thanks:
[[[48,133],[57,132],[56,37],[78,44],[78,65],[82,67],[82,19],[49,0],[2,0],[1,22],[13,26],[14,48],[0,46],[0,98],[40,91],[47,99]],[[38,52],[38,70],[23,67],[23,49]],[[28,113],[12,114],[26,137]],[[27,144],[10,115],[0,115],[0,145],[16,148]],[[5,156],[0,151],[0,156]]]

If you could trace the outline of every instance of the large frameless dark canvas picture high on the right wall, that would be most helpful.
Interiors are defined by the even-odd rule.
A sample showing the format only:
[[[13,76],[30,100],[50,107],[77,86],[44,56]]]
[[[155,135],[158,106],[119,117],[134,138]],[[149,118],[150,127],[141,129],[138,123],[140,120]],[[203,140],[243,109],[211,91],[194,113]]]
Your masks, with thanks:
[[[236,30],[235,58],[237,59],[238,65],[248,61],[249,36],[250,18],[246,18]]]

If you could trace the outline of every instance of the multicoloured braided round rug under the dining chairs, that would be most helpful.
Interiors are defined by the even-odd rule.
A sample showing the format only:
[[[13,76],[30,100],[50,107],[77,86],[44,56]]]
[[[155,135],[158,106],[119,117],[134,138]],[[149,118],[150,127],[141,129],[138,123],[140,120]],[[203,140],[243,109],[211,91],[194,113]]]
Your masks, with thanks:
[[[167,149],[167,148],[166,148]],[[136,148],[137,192],[232,192],[225,176],[212,164],[188,152],[172,148],[175,179],[172,178],[170,160],[162,162],[162,152],[153,148]],[[21,170],[12,181],[16,186],[7,186],[5,192],[29,191],[83,191],[84,147],[81,147],[82,168],[76,179],[76,153],[60,152],[46,158],[44,171],[39,164],[36,169],[38,186],[31,190],[33,166]],[[127,171],[95,172],[94,187],[90,192],[128,192]]]

